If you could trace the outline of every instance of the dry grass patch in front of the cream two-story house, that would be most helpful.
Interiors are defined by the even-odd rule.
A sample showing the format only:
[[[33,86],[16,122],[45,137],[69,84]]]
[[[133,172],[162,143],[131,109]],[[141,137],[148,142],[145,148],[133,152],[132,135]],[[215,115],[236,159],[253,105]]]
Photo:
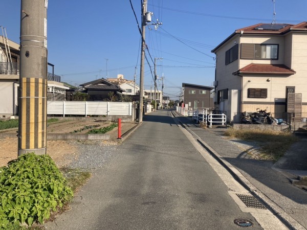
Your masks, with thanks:
[[[241,140],[257,142],[261,147],[261,154],[258,155],[258,158],[273,160],[274,162],[282,157],[292,144],[298,141],[298,137],[290,131],[277,131],[271,129],[248,130],[229,128],[224,134]]]

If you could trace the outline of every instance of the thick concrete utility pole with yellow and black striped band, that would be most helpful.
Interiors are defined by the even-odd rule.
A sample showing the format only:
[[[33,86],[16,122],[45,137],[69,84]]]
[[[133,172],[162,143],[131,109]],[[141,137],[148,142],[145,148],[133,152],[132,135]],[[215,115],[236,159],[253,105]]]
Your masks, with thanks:
[[[47,150],[47,0],[21,0],[18,156]]]

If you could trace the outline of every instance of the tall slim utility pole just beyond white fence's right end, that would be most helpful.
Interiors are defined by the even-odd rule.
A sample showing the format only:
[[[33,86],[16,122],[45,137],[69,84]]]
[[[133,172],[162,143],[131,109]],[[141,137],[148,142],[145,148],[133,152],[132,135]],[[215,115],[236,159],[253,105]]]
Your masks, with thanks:
[[[146,26],[147,0],[142,5],[142,50],[140,67],[140,104],[139,104],[139,123],[143,122],[143,94],[144,94],[144,61],[145,61],[145,26]]]

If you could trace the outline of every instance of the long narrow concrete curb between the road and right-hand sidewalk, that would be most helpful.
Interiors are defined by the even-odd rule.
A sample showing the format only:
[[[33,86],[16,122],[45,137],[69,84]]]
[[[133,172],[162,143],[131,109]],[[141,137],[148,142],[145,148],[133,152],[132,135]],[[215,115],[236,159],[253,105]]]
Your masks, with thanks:
[[[196,140],[220,163],[227,171],[248,191],[251,192],[252,195],[256,196],[262,203],[264,203],[269,210],[286,226],[290,227],[290,229],[305,229],[301,224],[299,224],[295,219],[293,219],[288,213],[283,211],[273,200],[269,199],[265,194],[259,191],[256,187],[252,185],[250,181],[248,181],[242,173],[240,173],[234,166],[232,166],[227,160],[224,159],[223,156],[218,154],[214,149],[212,149],[206,142],[204,142],[196,133],[190,130],[186,125],[184,125],[181,121],[179,123],[189,131]]]

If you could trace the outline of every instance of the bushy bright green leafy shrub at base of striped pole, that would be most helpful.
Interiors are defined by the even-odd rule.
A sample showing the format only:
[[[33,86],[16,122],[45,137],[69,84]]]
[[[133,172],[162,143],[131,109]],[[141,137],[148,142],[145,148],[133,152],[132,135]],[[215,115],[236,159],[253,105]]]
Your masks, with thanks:
[[[43,223],[73,197],[49,155],[28,153],[0,168],[0,225]]]

